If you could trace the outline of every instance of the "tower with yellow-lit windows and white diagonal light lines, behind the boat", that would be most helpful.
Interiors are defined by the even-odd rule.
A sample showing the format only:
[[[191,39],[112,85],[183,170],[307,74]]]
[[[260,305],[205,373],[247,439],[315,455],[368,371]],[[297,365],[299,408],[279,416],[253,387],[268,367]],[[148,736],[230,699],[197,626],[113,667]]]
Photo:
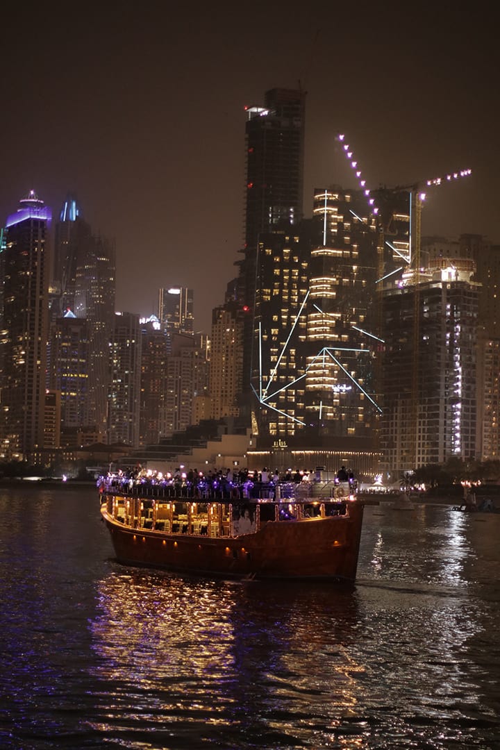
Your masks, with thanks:
[[[287,463],[290,450],[302,451],[301,462],[307,450],[315,463],[341,455],[358,470],[373,464],[376,245],[364,196],[340,187],[316,190],[314,218],[297,234],[261,235],[253,344],[258,446],[277,446]]]

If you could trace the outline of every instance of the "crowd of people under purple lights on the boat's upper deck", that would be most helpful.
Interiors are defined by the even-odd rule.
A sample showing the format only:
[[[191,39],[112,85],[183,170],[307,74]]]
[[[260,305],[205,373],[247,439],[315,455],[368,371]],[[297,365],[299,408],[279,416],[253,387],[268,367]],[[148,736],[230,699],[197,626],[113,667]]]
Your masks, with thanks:
[[[139,493],[144,490],[163,490],[166,496],[210,497],[214,499],[256,498],[276,496],[278,485],[293,485],[301,482],[316,481],[317,475],[311,469],[287,469],[279,472],[268,469],[250,471],[249,469],[198,469],[178,467],[173,472],[160,472],[136,466],[133,469],[109,472],[100,476],[97,486],[101,490],[121,490],[127,493]],[[345,466],[337,472],[336,482],[354,481],[352,472]],[[292,496],[292,489],[289,496]],[[286,496],[286,495],[283,495]]]

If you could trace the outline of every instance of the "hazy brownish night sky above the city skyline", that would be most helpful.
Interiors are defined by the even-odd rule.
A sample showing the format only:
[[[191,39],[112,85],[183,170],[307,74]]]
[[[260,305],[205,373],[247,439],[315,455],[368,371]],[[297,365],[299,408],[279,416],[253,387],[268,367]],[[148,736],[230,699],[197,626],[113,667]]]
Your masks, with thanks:
[[[500,244],[498,32],[482,4],[15,5],[0,222],[31,188],[54,214],[75,192],[115,239],[118,310],[151,314],[158,288],[181,284],[209,331],[241,258],[244,106],[274,87],[307,92],[306,215],[314,187],[355,187],[340,131],[370,187],[472,168],[428,193],[423,233]]]

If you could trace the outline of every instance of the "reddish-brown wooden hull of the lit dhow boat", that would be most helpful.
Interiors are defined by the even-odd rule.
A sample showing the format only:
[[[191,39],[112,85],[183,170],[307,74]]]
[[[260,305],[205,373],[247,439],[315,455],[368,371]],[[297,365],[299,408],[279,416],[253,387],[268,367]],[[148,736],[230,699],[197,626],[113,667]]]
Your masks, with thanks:
[[[166,533],[124,526],[101,514],[116,559],[132,565],[224,577],[330,578],[354,583],[364,505],[350,502],[346,515],[269,521],[237,537]]]

